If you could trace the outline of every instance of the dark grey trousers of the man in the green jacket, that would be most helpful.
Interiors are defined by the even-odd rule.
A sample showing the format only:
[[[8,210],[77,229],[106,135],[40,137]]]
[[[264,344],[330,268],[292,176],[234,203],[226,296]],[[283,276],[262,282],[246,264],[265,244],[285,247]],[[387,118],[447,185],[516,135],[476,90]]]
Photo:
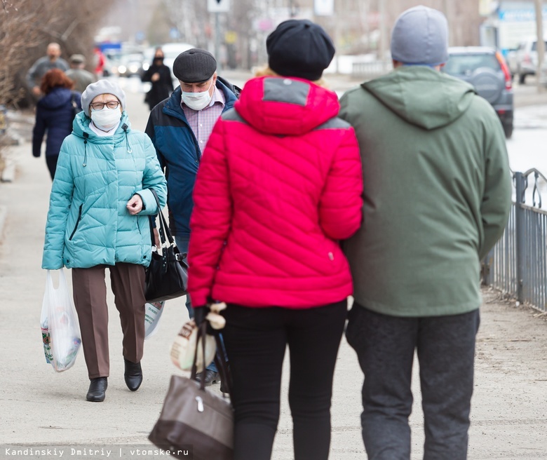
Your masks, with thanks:
[[[361,426],[369,460],[410,459],[414,350],[424,411],[424,459],[467,458],[479,322],[478,309],[401,318],[353,304],[346,338],[365,374]]]

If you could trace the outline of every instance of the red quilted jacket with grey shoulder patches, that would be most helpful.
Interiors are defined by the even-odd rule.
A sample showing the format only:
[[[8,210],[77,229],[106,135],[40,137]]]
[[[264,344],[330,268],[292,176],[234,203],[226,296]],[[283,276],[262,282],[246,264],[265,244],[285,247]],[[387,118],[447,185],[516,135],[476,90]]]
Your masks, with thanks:
[[[248,81],[217,121],[194,188],[189,294],[304,309],[352,292],[339,240],[361,223],[363,179],[337,95],[306,80]]]

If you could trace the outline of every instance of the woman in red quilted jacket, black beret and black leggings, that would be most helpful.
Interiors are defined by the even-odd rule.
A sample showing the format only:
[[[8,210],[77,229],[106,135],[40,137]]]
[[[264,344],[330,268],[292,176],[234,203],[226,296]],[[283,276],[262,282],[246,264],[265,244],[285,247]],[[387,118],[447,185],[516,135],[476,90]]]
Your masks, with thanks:
[[[228,304],[234,459],[270,459],[290,351],[295,460],[327,459],[332,376],[352,284],[339,240],[361,222],[358,144],[320,81],[335,48],[309,20],[266,41],[269,69],[245,84],[203,153],[194,189],[189,294],[196,323]]]

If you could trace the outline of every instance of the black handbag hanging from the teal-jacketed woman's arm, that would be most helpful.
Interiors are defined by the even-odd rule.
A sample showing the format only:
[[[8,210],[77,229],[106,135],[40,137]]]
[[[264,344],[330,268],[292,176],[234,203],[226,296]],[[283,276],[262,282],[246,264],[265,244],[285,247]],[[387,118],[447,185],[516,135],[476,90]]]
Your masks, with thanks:
[[[156,203],[158,203],[158,216],[160,221],[159,234],[160,248],[152,250],[150,265],[146,270],[146,285],[144,297],[147,302],[160,302],[161,300],[174,299],[187,293],[188,265],[186,252],[181,254],[173,241],[166,218],[163,217],[158,196],[154,189],[149,189]],[[150,222],[151,227],[151,222]],[[154,231],[150,228],[152,246],[155,247]]]

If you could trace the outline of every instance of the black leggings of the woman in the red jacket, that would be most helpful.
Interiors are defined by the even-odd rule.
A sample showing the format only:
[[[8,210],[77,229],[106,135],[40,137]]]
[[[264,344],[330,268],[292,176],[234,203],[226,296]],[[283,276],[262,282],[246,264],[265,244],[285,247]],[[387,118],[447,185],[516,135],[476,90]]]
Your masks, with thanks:
[[[328,458],[332,375],[346,315],[345,299],[311,309],[228,306],[223,333],[234,379],[234,460],[271,457],[287,345],[295,460]]]

